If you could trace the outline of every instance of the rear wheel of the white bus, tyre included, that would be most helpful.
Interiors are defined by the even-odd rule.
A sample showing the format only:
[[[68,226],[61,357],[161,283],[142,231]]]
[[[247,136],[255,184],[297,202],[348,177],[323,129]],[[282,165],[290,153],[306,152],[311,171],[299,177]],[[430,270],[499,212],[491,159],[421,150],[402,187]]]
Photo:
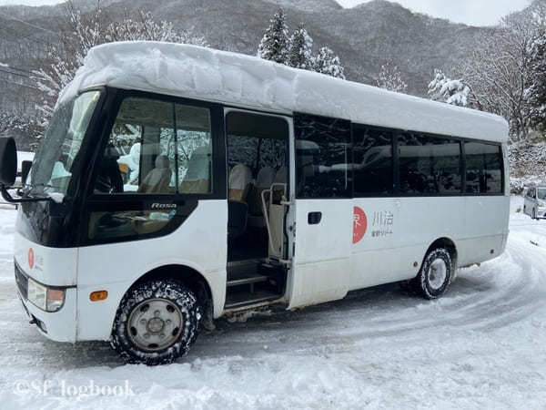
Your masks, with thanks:
[[[417,291],[426,299],[437,299],[446,292],[453,273],[450,252],[443,248],[430,251],[415,278]]]

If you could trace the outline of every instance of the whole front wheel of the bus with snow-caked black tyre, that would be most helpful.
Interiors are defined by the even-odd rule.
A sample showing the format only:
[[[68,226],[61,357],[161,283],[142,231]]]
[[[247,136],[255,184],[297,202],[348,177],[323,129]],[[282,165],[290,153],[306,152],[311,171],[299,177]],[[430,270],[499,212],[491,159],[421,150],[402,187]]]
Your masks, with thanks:
[[[142,282],[121,301],[111,344],[127,363],[172,363],[195,342],[200,321],[197,298],[182,282]]]

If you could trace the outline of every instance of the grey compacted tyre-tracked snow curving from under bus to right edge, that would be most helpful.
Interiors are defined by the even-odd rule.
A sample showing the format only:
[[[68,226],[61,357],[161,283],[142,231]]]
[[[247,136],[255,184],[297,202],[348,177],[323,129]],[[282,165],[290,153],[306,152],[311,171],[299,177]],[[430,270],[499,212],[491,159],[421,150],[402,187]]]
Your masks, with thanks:
[[[546,268],[546,252],[514,235],[500,258],[460,272],[446,297],[438,301],[423,302],[393,285],[381,286],[303,311],[252,318],[248,323],[220,323],[216,334],[204,338],[199,354],[216,350],[209,342],[220,333],[222,338],[236,339],[228,344],[240,342],[248,349],[248,343],[254,343],[261,352],[264,345],[281,351],[286,343],[298,343],[304,351],[320,342],[320,349],[339,351],[362,340],[407,339],[423,332],[490,332],[546,311],[544,271],[537,266]],[[317,334],[318,328],[324,332]],[[295,335],[287,336],[291,331]]]

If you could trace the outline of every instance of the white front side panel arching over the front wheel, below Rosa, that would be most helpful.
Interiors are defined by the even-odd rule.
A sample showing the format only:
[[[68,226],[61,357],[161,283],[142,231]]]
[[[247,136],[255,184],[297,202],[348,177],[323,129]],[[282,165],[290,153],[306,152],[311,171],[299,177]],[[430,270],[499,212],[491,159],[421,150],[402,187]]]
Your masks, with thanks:
[[[226,298],[227,201],[200,200],[173,233],[150,240],[83,247],[78,260],[78,340],[107,340],[124,294],[147,272],[166,265],[187,266],[207,280],[214,316]],[[105,301],[89,293],[106,289]]]

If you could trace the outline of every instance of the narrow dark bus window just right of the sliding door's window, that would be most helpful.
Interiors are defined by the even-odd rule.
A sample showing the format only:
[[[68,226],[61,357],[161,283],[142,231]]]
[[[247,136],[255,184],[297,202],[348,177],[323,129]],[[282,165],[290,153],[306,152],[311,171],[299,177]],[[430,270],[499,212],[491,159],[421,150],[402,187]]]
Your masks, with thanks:
[[[392,135],[389,131],[353,129],[355,196],[394,192]]]

